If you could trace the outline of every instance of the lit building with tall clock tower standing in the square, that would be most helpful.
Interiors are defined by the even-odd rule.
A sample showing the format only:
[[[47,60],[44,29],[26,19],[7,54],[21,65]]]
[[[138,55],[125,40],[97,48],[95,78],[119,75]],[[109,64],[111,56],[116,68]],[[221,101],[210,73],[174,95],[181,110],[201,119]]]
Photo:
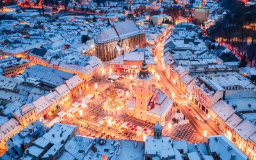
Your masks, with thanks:
[[[172,100],[161,90],[153,90],[153,76],[148,72],[147,63],[143,61],[139,76],[136,78],[135,97],[127,106],[127,115],[151,123],[164,125],[172,111]]]

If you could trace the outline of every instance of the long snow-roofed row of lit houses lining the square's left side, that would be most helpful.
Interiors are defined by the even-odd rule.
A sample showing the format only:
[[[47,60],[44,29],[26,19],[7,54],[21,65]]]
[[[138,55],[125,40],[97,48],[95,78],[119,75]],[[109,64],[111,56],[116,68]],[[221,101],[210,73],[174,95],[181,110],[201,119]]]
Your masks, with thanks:
[[[45,79],[44,76],[46,77]],[[46,92],[46,94],[37,97],[36,100],[24,103],[24,105],[20,105],[20,107],[6,106],[4,111],[11,110],[11,115],[3,116],[4,121],[1,124],[0,148],[3,149],[6,149],[6,141],[12,137],[13,134],[16,134],[36,120],[44,120],[45,117],[54,113],[58,106],[67,102],[70,97],[76,95],[79,90],[84,89],[84,80],[81,79],[81,77],[39,65],[28,67],[24,71],[23,77],[24,81],[22,83],[26,85],[29,83],[42,83],[43,85],[48,85],[48,88],[50,86],[52,86],[52,88],[49,92]],[[54,78],[51,79],[51,77]],[[19,79],[19,77],[17,78]],[[60,83],[55,83],[55,80],[60,81]],[[13,79],[13,81],[16,80]],[[19,102],[19,100],[20,99],[17,99],[17,102]]]

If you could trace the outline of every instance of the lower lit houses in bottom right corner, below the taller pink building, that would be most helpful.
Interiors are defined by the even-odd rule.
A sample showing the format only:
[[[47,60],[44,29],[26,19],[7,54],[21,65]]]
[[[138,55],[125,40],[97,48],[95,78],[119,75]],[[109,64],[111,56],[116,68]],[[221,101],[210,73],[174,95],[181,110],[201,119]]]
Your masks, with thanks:
[[[250,120],[237,115],[236,109],[224,100],[216,102],[211,107],[209,115],[230,141],[233,141],[250,159],[256,158],[256,127]]]

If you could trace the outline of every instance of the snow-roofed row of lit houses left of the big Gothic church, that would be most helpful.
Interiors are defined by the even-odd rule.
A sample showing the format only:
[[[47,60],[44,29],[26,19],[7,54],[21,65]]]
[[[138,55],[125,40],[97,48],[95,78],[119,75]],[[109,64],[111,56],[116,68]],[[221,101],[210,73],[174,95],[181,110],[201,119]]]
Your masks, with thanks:
[[[60,54],[37,48],[28,54],[32,64],[44,65],[77,74],[85,81],[90,81],[93,77],[102,73],[104,68],[101,60],[96,56],[81,56],[77,52],[70,52],[63,58],[56,58],[58,55]]]

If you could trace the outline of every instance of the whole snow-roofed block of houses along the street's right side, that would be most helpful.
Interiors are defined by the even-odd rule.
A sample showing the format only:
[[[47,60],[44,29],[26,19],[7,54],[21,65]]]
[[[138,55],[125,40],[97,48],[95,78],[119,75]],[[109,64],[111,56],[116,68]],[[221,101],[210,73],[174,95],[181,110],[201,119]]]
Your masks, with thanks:
[[[193,24],[178,24],[164,44],[164,67],[170,82],[195,103],[230,141],[255,159],[255,84],[243,76],[237,61],[225,62]],[[240,74],[242,73],[242,74]]]

